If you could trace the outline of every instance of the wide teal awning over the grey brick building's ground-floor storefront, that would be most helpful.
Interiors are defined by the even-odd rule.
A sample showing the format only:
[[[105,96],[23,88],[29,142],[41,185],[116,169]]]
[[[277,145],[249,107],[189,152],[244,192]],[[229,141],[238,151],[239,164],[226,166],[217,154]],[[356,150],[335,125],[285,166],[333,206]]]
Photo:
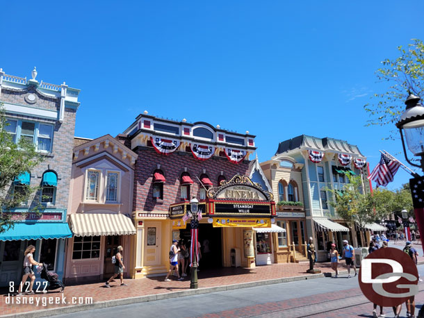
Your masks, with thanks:
[[[0,241],[41,240],[72,237],[67,223],[15,223],[13,228],[0,233]]]

